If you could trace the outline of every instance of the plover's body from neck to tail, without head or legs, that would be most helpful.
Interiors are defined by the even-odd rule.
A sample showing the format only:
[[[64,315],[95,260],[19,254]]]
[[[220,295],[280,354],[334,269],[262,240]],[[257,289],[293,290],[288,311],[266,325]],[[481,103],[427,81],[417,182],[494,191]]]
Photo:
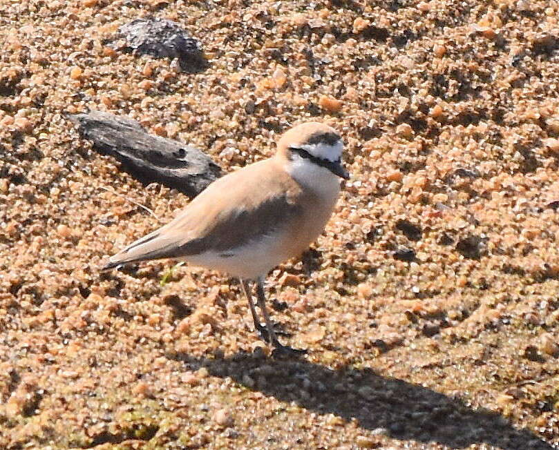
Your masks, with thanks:
[[[176,258],[252,278],[299,255],[321,233],[337,191],[319,195],[296,182],[276,158],[216,180],[169,224],[109,260]]]

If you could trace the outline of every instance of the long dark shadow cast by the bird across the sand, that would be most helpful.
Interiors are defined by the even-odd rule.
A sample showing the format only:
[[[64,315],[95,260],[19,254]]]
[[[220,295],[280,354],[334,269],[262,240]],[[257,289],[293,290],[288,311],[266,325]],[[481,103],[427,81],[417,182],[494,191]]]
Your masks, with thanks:
[[[364,429],[386,429],[390,438],[456,449],[482,443],[507,450],[553,449],[497,413],[471,409],[460,400],[370,369],[334,371],[304,359],[280,360],[258,352],[201,359],[176,353],[168,358],[184,362],[189,370],[206,367],[213,376],[231,377],[249,389],[283,402],[295,401],[316,413],[356,419]]]

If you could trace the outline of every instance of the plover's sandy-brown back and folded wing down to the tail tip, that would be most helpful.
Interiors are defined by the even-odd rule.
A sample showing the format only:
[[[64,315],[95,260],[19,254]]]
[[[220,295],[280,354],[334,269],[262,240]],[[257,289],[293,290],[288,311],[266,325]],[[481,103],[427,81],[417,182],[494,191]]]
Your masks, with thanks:
[[[266,160],[218,179],[173,221],[124,248],[103,269],[205,251],[227,253],[300,218],[299,184],[272,164]]]

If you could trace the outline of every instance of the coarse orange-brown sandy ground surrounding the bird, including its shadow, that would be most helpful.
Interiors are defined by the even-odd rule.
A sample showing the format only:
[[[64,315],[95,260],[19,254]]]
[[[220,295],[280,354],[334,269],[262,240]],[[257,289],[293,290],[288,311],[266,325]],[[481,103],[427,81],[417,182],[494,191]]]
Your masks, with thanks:
[[[108,48],[149,14],[199,39],[207,70]],[[2,1],[0,448],[558,448],[558,16],[526,0]],[[90,109],[225,170],[300,121],[342,133],[334,217],[269,276],[306,358],[272,358],[223,275],[99,273],[189,199],[91,150],[66,117]]]

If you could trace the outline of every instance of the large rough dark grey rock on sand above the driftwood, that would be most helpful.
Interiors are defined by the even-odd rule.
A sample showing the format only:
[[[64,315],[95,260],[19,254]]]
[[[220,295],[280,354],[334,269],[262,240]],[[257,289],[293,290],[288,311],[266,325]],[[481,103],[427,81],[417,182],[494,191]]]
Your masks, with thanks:
[[[167,19],[135,19],[120,26],[112,40],[115,50],[155,58],[177,58],[184,72],[202,72],[207,68],[198,41],[190,37],[178,23]]]

